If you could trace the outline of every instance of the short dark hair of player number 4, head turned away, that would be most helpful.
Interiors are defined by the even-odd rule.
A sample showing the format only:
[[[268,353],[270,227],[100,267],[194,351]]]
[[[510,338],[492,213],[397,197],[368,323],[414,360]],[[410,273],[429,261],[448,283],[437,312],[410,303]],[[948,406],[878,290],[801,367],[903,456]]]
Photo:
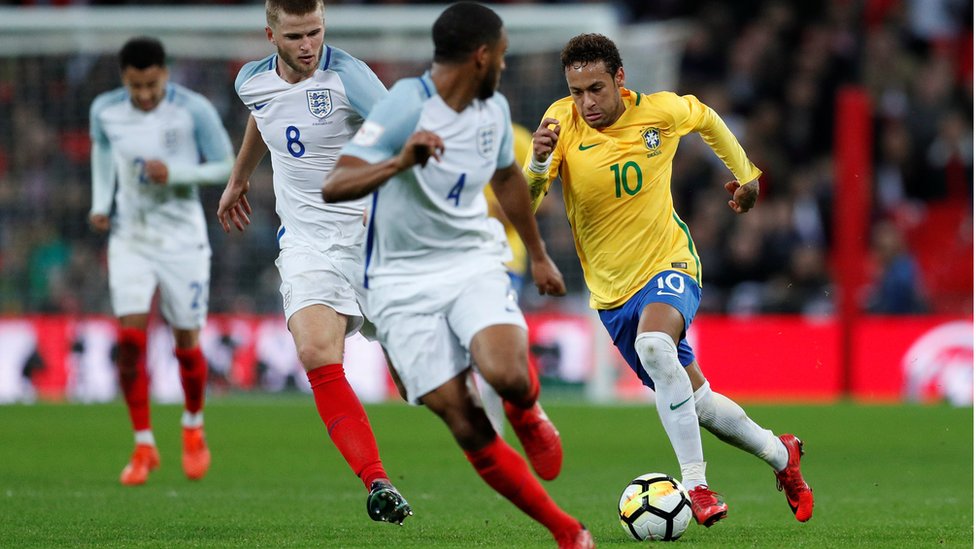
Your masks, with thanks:
[[[502,37],[502,18],[476,2],[457,2],[444,10],[431,30],[434,62],[457,63]]]

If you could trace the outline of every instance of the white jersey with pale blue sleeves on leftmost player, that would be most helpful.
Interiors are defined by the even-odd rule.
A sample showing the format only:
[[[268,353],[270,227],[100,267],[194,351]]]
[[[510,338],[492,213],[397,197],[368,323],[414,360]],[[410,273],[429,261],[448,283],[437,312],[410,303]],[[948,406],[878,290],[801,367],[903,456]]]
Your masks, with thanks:
[[[162,102],[146,112],[132,104],[125,88],[95,98],[90,112],[92,213],[108,214],[115,186],[112,235],[160,251],[205,245],[207,226],[195,170],[212,162],[214,182],[226,181],[234,153],[213,105],[178,84],[166,86]],[[167,165],[166,185],[150,182],[146,160]],[[180,181],[177,174],[193,173]]]

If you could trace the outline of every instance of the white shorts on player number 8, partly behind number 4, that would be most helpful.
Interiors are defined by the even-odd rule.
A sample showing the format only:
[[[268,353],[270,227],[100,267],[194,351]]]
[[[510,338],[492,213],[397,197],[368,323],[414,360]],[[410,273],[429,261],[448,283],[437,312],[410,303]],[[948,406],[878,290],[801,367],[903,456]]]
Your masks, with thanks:
[[[359,247],[328,252],[310,247],[284,248],[275,260],[281,275],[285,320],[310,305],[325,305],[348,319],[346,335],[363,327],[363,259]],[[366,335],[366,334],[364,334]]]

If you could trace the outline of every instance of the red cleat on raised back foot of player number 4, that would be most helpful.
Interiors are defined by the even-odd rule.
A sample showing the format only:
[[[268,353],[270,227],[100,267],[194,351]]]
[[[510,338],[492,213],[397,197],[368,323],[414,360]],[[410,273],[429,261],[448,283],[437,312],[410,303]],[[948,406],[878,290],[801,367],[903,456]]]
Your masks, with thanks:
[[[526,410],[505,402],[505,415],[539,478],[552,480],[558,477],[563,467],[563,446],[559,431],[549,421],[542,406],[536,402]]]

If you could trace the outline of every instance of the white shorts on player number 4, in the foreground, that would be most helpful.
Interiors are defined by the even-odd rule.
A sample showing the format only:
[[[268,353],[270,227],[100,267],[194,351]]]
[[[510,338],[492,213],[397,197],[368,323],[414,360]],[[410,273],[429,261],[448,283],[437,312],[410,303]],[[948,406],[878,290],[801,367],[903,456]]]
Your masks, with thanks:
[[[369,311],[380,343],[407,392],[407,402],[447,383],[471,364],[471,340],[497,324],[526,328],[511,281],[496,271],[457,282],[370,288]]]

